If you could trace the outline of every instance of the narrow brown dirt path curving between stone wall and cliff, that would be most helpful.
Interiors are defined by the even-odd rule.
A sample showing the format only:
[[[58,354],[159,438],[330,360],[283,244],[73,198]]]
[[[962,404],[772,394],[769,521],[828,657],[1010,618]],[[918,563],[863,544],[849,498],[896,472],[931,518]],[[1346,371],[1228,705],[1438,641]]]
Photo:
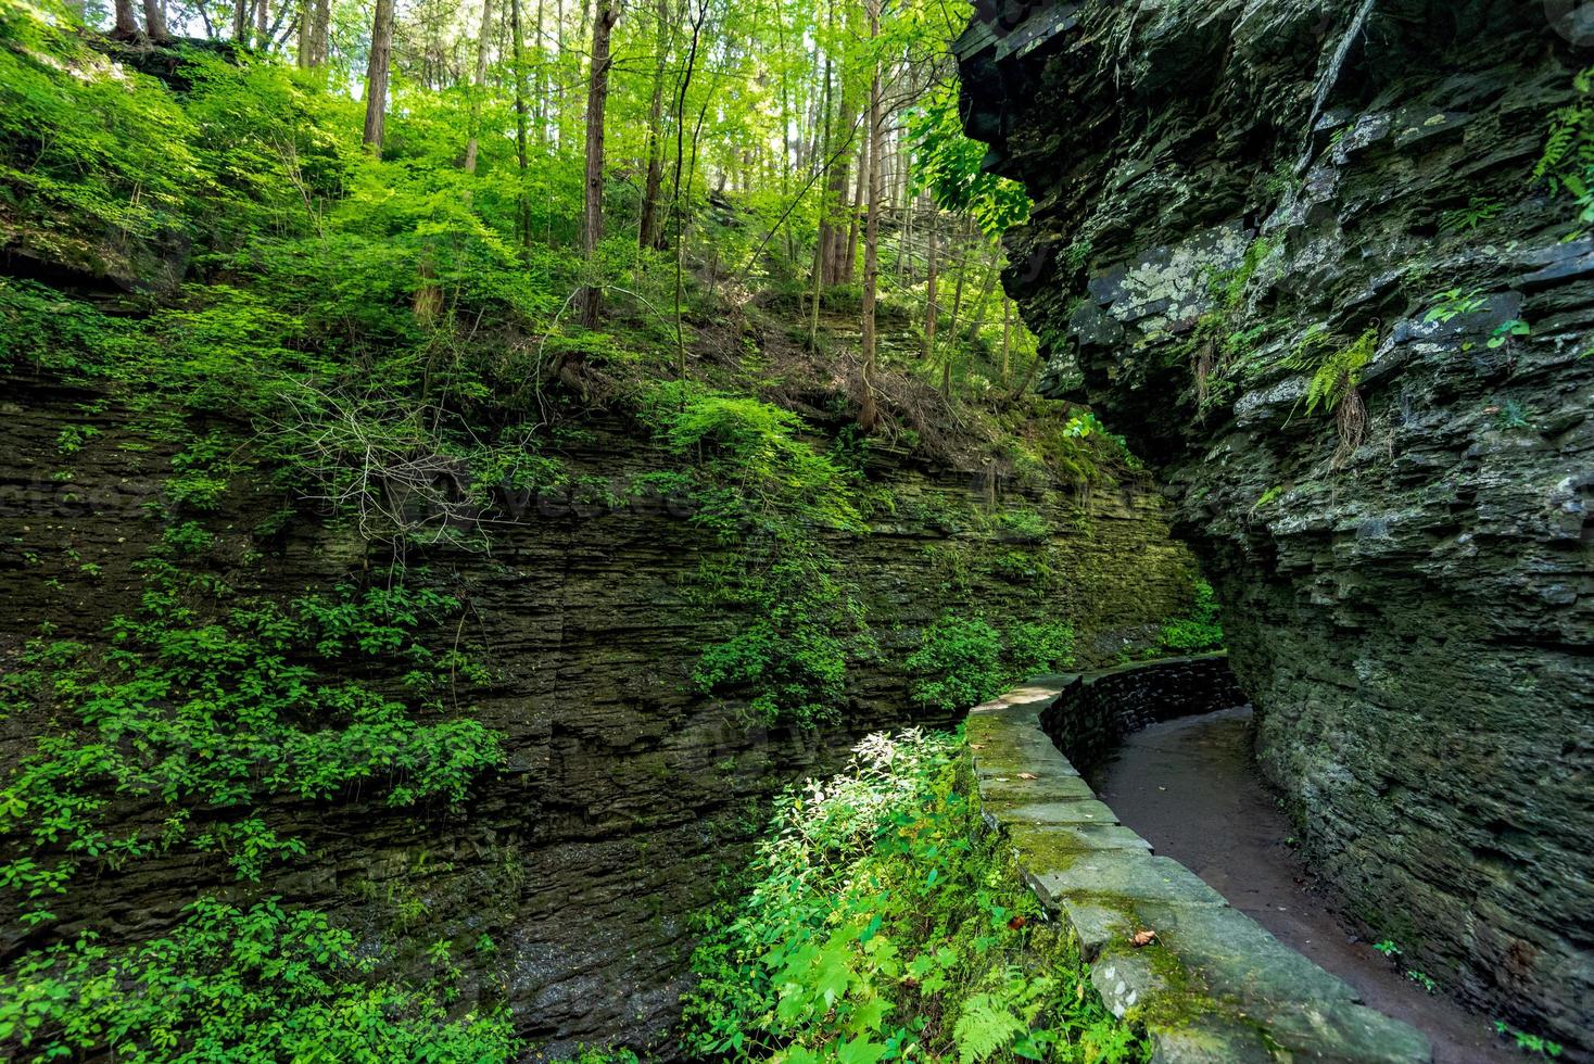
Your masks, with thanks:
[[[1522,1061],[1489,1018],[1425,992],[1302,887],[1305,873],[1285,841],[1290,820],[1251,766],[1250,726],[1250,709],[1152,725],[1129,736],[1090,785],[1159,854],[1355,986],[1368,1005],[1423,1031],[1436,1064]]]

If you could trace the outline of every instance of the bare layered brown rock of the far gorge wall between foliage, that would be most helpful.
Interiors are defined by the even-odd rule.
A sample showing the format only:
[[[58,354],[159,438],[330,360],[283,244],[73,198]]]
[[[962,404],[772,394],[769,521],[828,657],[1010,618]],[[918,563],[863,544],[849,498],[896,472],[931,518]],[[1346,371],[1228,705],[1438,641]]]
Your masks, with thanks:
[[[174,444],[115,397],[54,382],[0,381],[0,417],[5,669],[41,624],[94,639],[135,607],[134,562],[161,537]],[[572,433],[563,460],[572,481],[612,491],[523,500],[488,554],[410,559],[469,604],[461,631],[442,636],[478,647],[491,666],[489,682],[456,698],[502,733],[504,771],[456,812],[379,800],[273,806],[265,819],[303,838],[309,857],[257,889],[333,911],[373,951],[402,957],[489,935],[491,957],[461,960],[467,1003],[507,1002],[520,1032],[550,1051],[628,1043],[649,1061],[673,1056],[692,916],[741,871],[771,790],[829,771],[858,734],[921,715],[901,661],[942,610],[980,604],[993,618],[1031,618],[1062,599],[1084,656],[1100,661],[1189,605],[1189,556],[1170,542],[1154,494],[1103,487],[1078,511],[1027,499],[1068,530],[1003,540],[980,514],[1015,503],[1012,486],[881,460],[874,479],[894,510],[870,534],[830,545],[881,651],[854,667],[842,726],[749,726],[735,702],[689,683],[703,647],[725,634],[725,618],[690,600],[711,537],[689,510],[625,491],[666,459],[634,425],[598,417]],[[206,521],[222,537],[204,562],[220,585],[292,596],[365,564],[352,530],[303,513],[284,522],[282,503],[266,478],[230,487]],[[0,768],[26,757],[40,730],[0,718]],[[108,943],[135,940],[171,927],[196,894],[249,889],[220,855],[151,857],[75,884],[53,906],[56,929],[10,924],[0,949],[14,957],[84,927]]]

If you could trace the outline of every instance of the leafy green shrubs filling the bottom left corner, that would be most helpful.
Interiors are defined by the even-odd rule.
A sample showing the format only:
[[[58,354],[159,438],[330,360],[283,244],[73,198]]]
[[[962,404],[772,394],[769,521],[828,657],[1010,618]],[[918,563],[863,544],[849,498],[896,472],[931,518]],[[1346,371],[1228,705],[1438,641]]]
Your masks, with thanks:
[[[108,948],[84,933],[22,957],[0,976],[0,1042],[21,1046],[19,1061],[515,1058],[505,1013],[451,1018],[440,981],[381,981],[373,968],[320,913],[204,897],[164,937]]]

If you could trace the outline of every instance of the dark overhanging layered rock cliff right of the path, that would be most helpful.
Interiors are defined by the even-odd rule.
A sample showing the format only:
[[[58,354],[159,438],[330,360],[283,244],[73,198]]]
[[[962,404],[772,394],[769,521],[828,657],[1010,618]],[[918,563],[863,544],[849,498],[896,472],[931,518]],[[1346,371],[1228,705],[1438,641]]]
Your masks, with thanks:
[[[1588,1051],[1594,239],[1532,180],[1578,40],[1538,3],[1130,0],[987,5],[958,51],[1036,201],[1004,280],[1050,387],[1160,468],[1313,865]],[[1310,411],[1344,352],[1345,417]]]

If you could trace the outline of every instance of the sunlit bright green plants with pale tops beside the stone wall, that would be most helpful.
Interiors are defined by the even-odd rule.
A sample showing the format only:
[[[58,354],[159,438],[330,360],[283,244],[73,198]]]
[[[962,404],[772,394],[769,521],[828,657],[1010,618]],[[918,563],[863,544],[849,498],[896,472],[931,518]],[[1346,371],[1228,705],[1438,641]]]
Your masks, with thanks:
[[[982,831],[945,736],[870,736],[776,800],[751,892],[692,967],[684,1048],[787,1062],[1141,1061]]]

